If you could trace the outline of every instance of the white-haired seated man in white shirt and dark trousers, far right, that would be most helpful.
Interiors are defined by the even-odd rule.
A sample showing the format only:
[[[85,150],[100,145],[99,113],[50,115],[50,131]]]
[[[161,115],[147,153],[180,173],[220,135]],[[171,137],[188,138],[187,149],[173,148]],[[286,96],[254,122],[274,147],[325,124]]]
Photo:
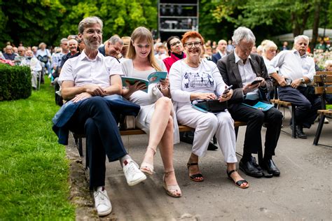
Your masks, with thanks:
[[[308,85],[316,73],[314,59],[306,54],[308,44],[307,36],[297,36],[293,50],[279,52],[270,63],[279,68],[279,73],[270,75],[279,83],[279,99],[296,105],[296,135],[299,138],[307,138],[303,127],[310,128],[314,124],[321,106],[321,99],[314,94],[314,87]]]

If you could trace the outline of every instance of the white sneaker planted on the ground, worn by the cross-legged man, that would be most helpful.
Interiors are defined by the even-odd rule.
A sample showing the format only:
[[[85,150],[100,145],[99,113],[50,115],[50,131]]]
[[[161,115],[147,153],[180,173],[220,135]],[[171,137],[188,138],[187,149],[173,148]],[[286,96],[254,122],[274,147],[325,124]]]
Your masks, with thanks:
[[[97,190],[93,192],[93,197],[95,197],[95,208],[99,216],[109,215],[112,211],[112,204],[109,201],[109,196],[106,190],[102,190],[103,187],[97,187]]]

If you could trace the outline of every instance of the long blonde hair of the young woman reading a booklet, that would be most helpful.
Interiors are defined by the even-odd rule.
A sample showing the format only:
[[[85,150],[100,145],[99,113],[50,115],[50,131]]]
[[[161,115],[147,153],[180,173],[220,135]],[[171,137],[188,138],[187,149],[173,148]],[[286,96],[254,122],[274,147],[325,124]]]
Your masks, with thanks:
[[[150,62],[151,66],[153,67],[153,69],[155,69],[156,71],[162,71],[160,66],[158,65],[157,61],[155,60],[155,56],[153,55],[153,38],[152,38],[152,34],[151,31],[149,31],[148,29],[146,29],[146,27],[137,27],[136,29],[134,29],[134,31],[132,31],[132,36],[131,36],[131,41],[129,43],[129,48],[127,51],[127,58],[129,59],[134,59],[136,57],[136,50],[134,48],[134,41],[148,41],[148,44],[151,47],[151,51],[148,54],[148,61]]]

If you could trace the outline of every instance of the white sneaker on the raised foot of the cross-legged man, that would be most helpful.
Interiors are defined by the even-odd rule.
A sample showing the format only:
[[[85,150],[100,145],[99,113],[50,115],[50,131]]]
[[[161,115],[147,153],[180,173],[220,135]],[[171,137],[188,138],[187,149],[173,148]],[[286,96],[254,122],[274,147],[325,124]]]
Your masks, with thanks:
[[[123,164],[123,173],[125,173],[128,185],[137,185],[137,183],[146,180],[145,174],[139,170],[139,166],[132,159],[126,159]]]

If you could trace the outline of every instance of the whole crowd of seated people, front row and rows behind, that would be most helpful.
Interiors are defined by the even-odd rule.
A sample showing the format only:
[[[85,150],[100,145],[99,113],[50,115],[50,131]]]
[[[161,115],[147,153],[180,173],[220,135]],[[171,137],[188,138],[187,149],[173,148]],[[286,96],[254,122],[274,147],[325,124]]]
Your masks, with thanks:
[[[256,48],[256,38],[246,27],[237,28],[231,41],[221,39],[218,43],[205,42],[196,31],[188,31],[182,38],[171,36],[165,42],[154,41],[145,27],[137,27],[131,36],[107,36],[108,40],[102,43],[102,29],[102,20],[86,17],[78,24],[78,35],[61,38],[54,50],[49,50],[46,43],[18,48],[8,44],[0,55],[15,65],[29,66],[34,89],[43,69],[52,78],[55,101],[62,106],[53,119],[53,129],[60,143],[67,142],[63,130],[86,134],[90,189],[101,216],[112,210],[104,187],[106,156],[110,162],[120,161],[128,185],[137,185],[146,175],[155,173],[153,160],[159,147],[165,192],[171,197],[184,194],[173,166],[174,144],[180,141],[178,123],[195,129],[187,162],[190,180],[205,180],[198,163],[216,136],[226,175],[237,187],[245,189],[250,180],[244,180],[237,171],[234,120],[247,123],[239,168],[247,176],[260,178],[265,171],[271,176],[281,174],[272,157],[282,127],[282,113],[274,107],[265,111],[252,107],[258,102],[269,104],[272,82],[278,83],[282,99],[297,102],[298,137],[307,137],[303,128],[309,128],[317,117],[320,99],[312,94],[315,69],[314,59],[307,56],[307,36],[297,36],[293,49],[284,43],[278,53],[279,48],[270,40]],[[330,59],[325,70],[331,71],[331,67]],[[121,76],[147,79],[155,71],[167,72],[167,78],[148,87],[139,82],[123,85],[121,81]],[[228,108],[216,113],[193,108],[202,100],[223,104],[227,101]],[[140,166],[127,154],[121,141],[120,113],[135,115],[136,127],[148,134]],[[59,115],[67,115],[65,122]],[[263,124],[264,157],[258,165],[252,155],[263,148]]]

